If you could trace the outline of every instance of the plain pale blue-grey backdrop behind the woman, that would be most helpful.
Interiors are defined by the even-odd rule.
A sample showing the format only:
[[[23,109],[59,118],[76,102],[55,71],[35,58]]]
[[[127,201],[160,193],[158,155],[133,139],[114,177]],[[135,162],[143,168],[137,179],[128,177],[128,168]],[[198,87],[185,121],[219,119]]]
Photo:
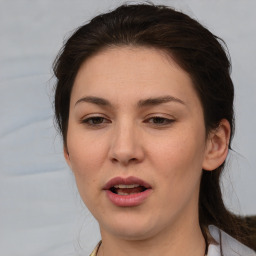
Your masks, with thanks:
[[[76,27],[121,2],[0,1],[1,255],[89,255],[99,240],[54,129],[51,65]],[[223,193],[230,210],[256,214],[256,1],[153,2],[198,19],[228,45],[237,126]]]

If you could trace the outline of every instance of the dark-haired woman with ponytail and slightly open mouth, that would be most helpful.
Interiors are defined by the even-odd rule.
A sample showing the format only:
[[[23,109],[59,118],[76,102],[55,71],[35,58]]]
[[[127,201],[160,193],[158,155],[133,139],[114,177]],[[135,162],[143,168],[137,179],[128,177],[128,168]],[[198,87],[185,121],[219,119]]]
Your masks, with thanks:
[[[220,190],[234,91],[219,41],[171,8],[123,5],[60,52],[56,120],[100,226],[92,255],[255,255]]]

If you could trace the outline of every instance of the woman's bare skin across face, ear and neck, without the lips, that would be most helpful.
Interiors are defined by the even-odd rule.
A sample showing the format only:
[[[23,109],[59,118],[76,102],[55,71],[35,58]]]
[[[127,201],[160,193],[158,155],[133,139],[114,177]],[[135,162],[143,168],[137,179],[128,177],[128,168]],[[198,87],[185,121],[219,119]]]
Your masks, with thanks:
[[[138,105],[166,96],[171,100]],[[99,222],[98,255],[204,255],[200,178],[225,160],[230,127],[222,120],[206,135],[189,75],[160,50],[108,48],[80,67],[69,114],[64,155]],[[115,206],[103,187],[116,176],[143,179],[152,193],[139,206]]]

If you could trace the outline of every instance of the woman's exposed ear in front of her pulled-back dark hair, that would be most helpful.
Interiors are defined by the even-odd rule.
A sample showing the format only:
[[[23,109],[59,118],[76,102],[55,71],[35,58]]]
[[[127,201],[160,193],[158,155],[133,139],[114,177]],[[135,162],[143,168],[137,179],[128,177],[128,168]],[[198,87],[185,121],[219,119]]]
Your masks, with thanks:
[[[210,131],[202,168],[212,171],[218,168],[228,155],[230,140],[230,124],[226,119],[222,119],[216,129]]]

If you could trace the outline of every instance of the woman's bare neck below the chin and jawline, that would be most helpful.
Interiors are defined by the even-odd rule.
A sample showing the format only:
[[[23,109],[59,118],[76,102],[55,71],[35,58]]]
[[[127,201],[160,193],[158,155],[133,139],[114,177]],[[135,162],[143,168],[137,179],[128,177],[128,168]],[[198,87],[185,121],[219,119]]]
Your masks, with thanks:
[[[141,240],[109,236],[103,231],[98,256],[204,256],[206,244],[199,223],[190,220],[183,227],[173,227],[171,232],[166,228],[153,237]]]

